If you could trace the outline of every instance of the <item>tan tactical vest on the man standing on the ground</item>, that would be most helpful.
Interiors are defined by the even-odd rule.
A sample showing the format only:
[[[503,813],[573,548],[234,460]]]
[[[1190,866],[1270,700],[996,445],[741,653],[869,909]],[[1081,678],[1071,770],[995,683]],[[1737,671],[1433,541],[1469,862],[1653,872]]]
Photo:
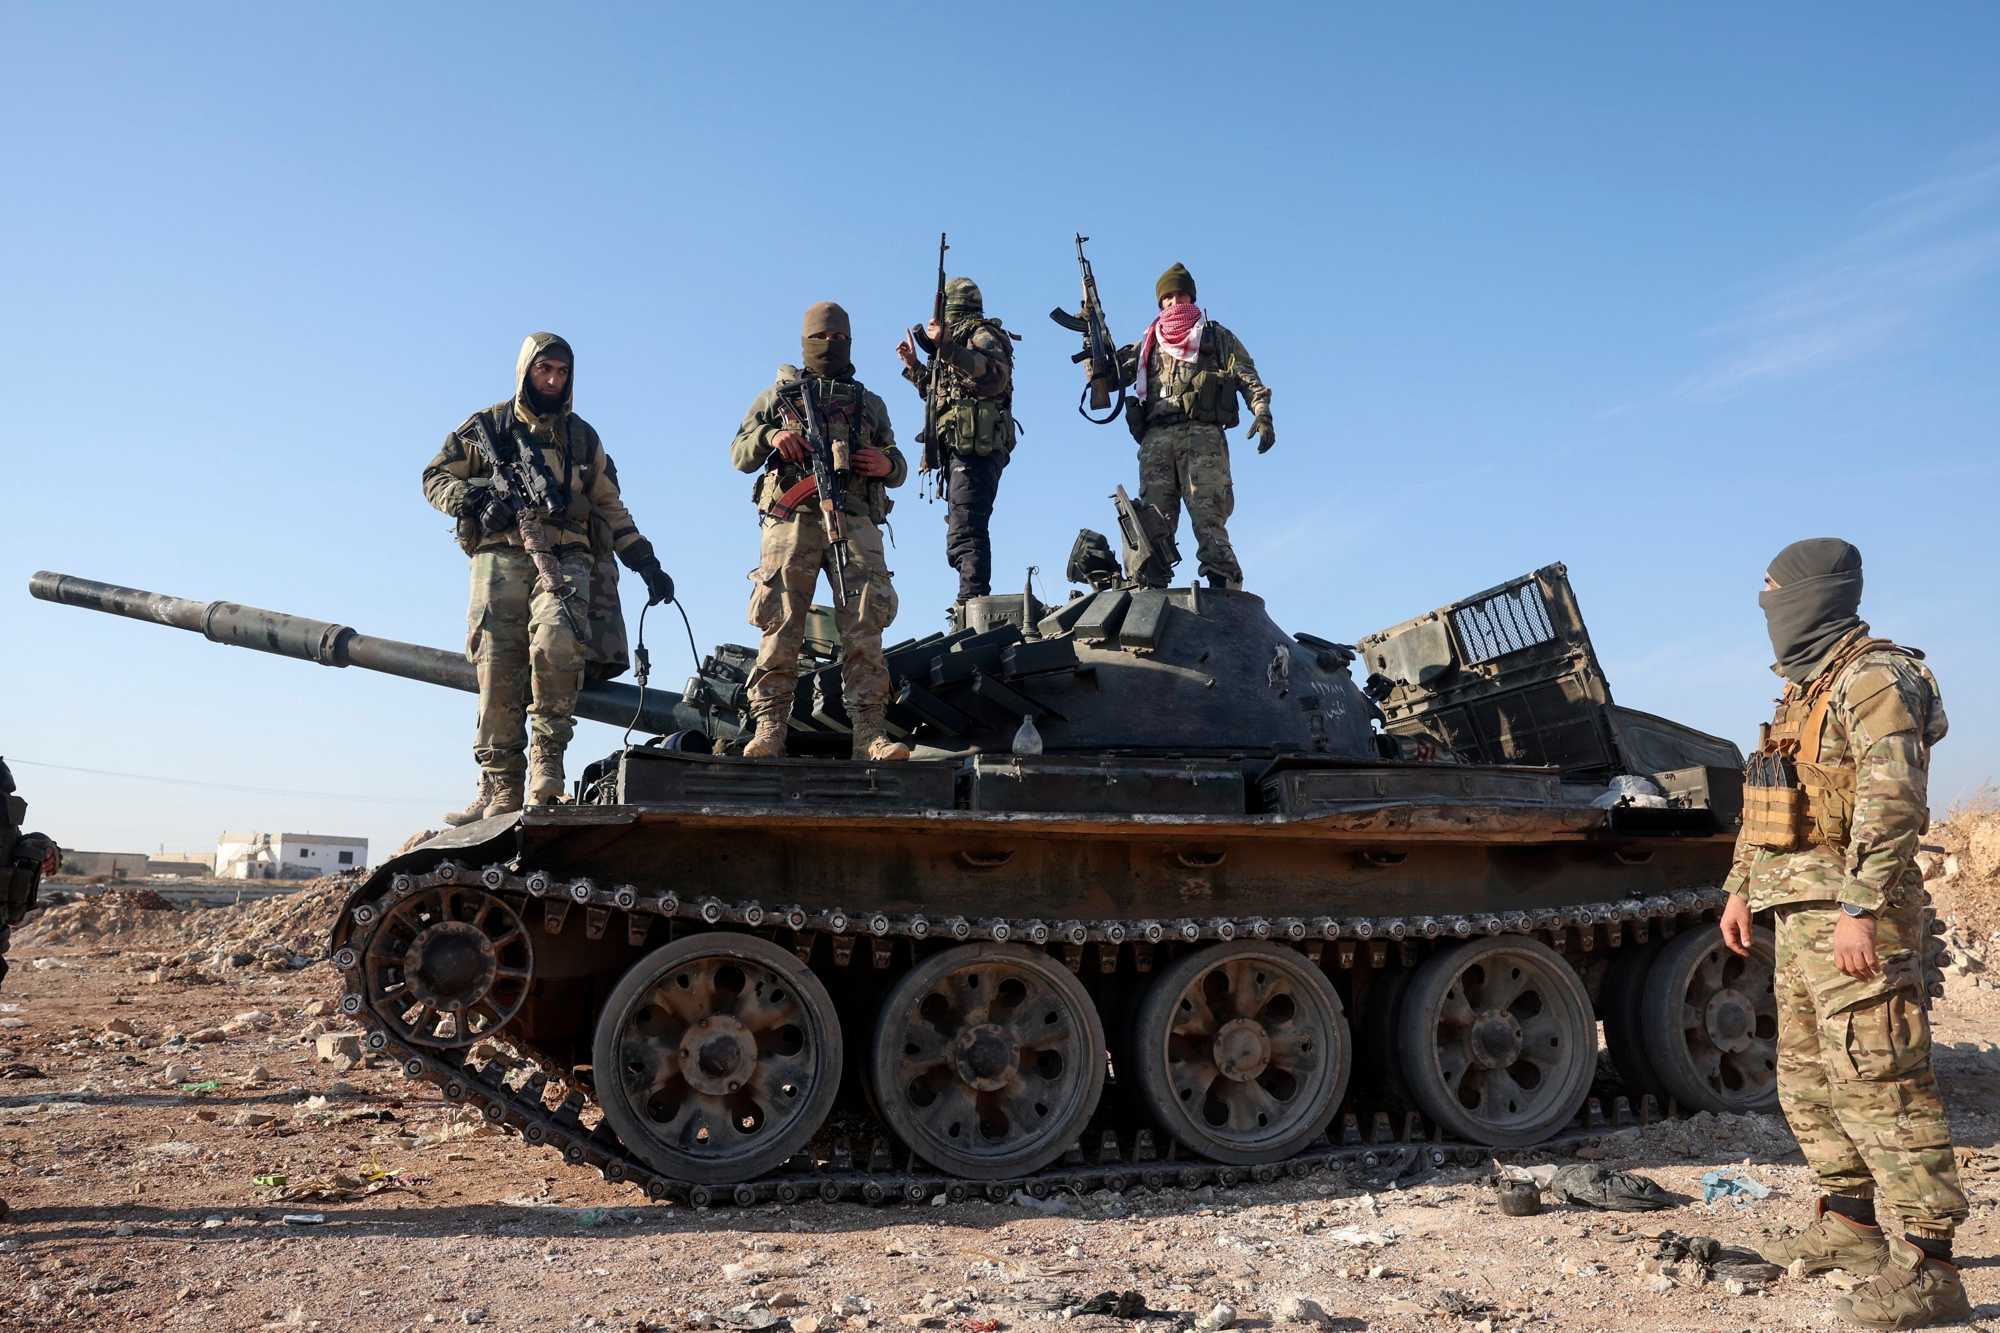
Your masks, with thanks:
[[[1786,683],[1778,715],[1762,727],[1756,753],[1744,765],[1744,839],[1768,851],[1834,847],[1844,851],[1854,833],[1854,777],[1858,765],[1820,763],[1826,711],[1834,685],[1850,666],[1872,652],[1900,652],[1892,640],[1860,638],[1804,687]],[[1910,654],[1914,656],[1914,654]]]

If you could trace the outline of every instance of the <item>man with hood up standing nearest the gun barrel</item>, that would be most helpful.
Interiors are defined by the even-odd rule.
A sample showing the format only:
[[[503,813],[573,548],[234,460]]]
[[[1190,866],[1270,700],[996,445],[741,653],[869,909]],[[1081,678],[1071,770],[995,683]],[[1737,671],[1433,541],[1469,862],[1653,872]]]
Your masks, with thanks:
[[[652,602],[674,596],[674,580],[618,496],[618,472],[604,442],[570,410],[574,366],[576,354],[562,338],[530,334],[514,368],[514,398],[466,420],[424,468],[424,498],[458,520],[458,544],[472,556],[466,658],[480,677],[472,743],[480,791],[472,805],[446,815],[446,823],[516,811],[524,787],[536,803],[562,799],[562,751],[576,729],[572,713],[586,664],[592,656],[616,660],[624,638],[622,626],[616,636],[610,632],[602,606],[596,620],[586,620],[598,564],[594,552],[616,552],[646,580]],[[554,480],[562,512],[542,522],[542,538],[562,566],[570,610],[588,642],[570,628],[562,600],[540,588],[534,560],[522,546],[518,512],[492,492],[492,460],[472,444],[474,420],[490,440],[526,442]]]

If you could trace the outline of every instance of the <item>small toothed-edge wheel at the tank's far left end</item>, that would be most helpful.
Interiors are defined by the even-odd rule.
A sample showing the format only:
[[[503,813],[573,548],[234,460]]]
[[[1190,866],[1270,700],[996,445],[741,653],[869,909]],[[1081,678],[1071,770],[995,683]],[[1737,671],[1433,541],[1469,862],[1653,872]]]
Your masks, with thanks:
[[[506,899],[436,883],[390,903],[362,969],[368,1005],[398,1037],[460,1047],[520,1013],[534,945]]]

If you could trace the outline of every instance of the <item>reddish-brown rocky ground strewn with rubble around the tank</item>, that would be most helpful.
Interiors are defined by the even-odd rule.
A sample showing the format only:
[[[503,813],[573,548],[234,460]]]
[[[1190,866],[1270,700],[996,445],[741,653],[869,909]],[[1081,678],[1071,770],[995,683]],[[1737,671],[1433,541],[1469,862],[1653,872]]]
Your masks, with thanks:
[[[1960,1255],[1978,1317],[2000,1327],[2000,991],[1984,969],[2000,921],[1980,915],[2000,899],[1968,837],[1936,847],[1940,905],[1968,903],[1966,961],[1932,1015],[1972,1195]],[[174,911],[124,891],[50,907],[16,937],[0,991],[0,1327],[1168,1333],[1182,1313],[1202,1329],[1738,1331],[1834,1327],[1846,1285],[1744,1281],[1662,1237],[1756,1247],[1808,1217],[1810,1173],[1774,1117],[1506,1157],[1602,1159],[1690,1199],[1648,1215],[1506,1217],[1478,1169],[1054,1213],[648,1205],[356,1059],[330,1017],[338,977],[316,961],[340,893]],[[1716,1169],[1768,1195],[1702,1203]]]

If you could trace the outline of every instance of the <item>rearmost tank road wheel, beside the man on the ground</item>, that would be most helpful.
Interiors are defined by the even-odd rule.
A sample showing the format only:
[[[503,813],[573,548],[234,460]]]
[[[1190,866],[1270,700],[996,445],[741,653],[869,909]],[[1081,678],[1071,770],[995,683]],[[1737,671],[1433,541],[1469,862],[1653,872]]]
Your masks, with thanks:
[[[1674,935],[1646,973],[1640,1027],[1654,1073],[1694,1111],[1778,1109],[1778,941],[1736,957],[1714,923]],[[1618,1059],[1612,1055],[1612,1059]]]

